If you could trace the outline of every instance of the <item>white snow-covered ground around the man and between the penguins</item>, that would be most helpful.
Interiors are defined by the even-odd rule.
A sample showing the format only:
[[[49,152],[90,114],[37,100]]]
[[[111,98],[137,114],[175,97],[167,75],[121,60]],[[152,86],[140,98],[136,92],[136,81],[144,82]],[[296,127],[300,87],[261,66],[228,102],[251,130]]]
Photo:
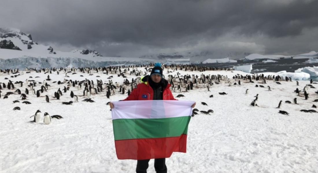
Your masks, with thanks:
[[[143,68],[138,68],[144,70]],[[168,77],[167,69],[163,71]],[[195,74],[198,71],[174,71],[175,75]],[[70,90],[63,93],[60,100],[52,98],[54,92],[66,86],[58,85],[53,81],[67,80],[103,80],[114,76],[113,83],[122,83],[124,78],[117,74],[105,75],[102,72],[93,75],[76,72],[68,73],[65,77],[62,72],[44,74],[31,72],[11,78],[10,75],[1,75],[0,82],[8,80],[24,81],[24,86],[15,87],[23,93],[27,84],[26,79],[43,82],[47,75],[52,81],[47,81],[51,89],[41,93],[40,97],[30,95],[27,101],[32,104],[21,103],[20,95],[10,95],[3,99],[9,92],[2,89],[0,99],[0,172],[1,173],[28,173],[28,172],[87,172],[87,173],[131,173],[135,172],[135,160],[118,160],[114,147],[114,135],[111,111],[106,105],[109,101],[118,101],[126,98],[127,94],[116,93],[110,99],[102,92],[92,95],[94,103],[82,102],[83,90],[71,86]],[[220,74],[232,77],[235,74],[247,74],[241,71],[205,71],[204,74]],[[83,77],[80,77],[83,75]],[[38,78],[36,78],[38,76]],[[100,76],[100,77],[97,77]],[[125,74],[131,81],[136,76]],[[33,78],[29,78],[33,77]],[[247,83],[241,80],[242,85],[228,86],[227,80],[214,84],[210,91],[198,88],[183,92],[185,97],[179,100],[196,101],[198,110],[214,110],[211,115],[199,113],[191,118],[188,130],[187,153],[174,153],[166,159],[169,173],[210,173],[210,172],[262,172],[262,173],[287,173],[287,172],[318,172],[318,113],[304,113],[301,109],[311,108],[317,99],[314,91],[308,88],[309,99],[296,96],[294,90],[304,88],[309,81],[296,82],[280,81],[281,85],[267,80],[267,84],[260,81]],[[232,84],[235,82],[231,79]],[[238,83],[238,81],[236,81]],[[272,91],[255,85],[268,85]],[[37,84],[36,90],[40,89]],[[316,88],[318,84],[313,84]],[[245,94],[245,90],[249,93]],[[79,96],[79,102],[73,105],[63,105],[62,101],[73,101],[70,97],[71,90]],[[10,90],[14,92],[15,90]],[[63,92],[63,91],[62,91]],[[225,92],[227,95],[219,95]],[[176,97],[180,93],[173,92]],[[250,106],[250,103],[259,94],[257,104],[259,107]],[[50,97],[51,103],[45,102],[45,95]],[[213,95],[213,97],[209,97]],[[297,98],[299,104],[288,104]],[[20,103],[13,103],[19,100]],[[283,103],[277,109],[279,101]],[[204,106],[205,102],[208,106]],[[12,110],[19,106],[21,110]],[[63,119],[52,119],[52,123],[30,123],[29,121],[36,110],[41,110],[52,115],[63,116]],[[287,111],[290,116],[279,114],[279,110]],[[43,117],[42,117],[43,121]],[[154,173],[154,160],[149,162],[149,173]]]

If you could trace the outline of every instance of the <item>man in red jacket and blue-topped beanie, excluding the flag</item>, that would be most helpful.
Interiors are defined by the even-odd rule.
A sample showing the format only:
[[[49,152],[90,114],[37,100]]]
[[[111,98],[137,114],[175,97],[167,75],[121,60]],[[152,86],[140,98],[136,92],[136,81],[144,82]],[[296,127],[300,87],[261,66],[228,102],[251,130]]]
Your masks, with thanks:
[[[142,83],[137,85],[130,95],[123,101],[128,100],[176,100],[171,91],[170,84],[164,78],[162,78],[162,68],[160,63],[156,63],[155,67],[151,70],[150,76],[145,76],[141,79]],[[113,103],[109,103],[110,108],[114,108]],[[194,108],[196,103],[191,107]],[[165,163],[166,158],[155,159],[155,170],[157,173],[167,173],[167,167]],[[147,173],[149,167],[149,159],[138,160],[136,172]]]

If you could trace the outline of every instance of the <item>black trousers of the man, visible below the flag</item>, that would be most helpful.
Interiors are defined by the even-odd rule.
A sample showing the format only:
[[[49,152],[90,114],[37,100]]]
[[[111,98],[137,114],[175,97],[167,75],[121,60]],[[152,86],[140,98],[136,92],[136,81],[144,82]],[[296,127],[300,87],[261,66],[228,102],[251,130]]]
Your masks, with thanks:
[[[149,167],[148,160],[137,160],[136,173],[147,173]],[[166,158],[155,159],[156,173],[167,173]]]

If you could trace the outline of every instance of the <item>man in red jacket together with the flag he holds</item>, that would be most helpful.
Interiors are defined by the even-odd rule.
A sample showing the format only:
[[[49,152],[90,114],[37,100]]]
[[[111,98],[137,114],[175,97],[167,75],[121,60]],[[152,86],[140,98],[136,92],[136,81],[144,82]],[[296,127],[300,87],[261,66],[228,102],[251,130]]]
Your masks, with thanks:
[[[165,158],[174,151],[186,151],[190,106],[194,108],[196,103],[159,101],[176,100],[169,89],[171,85],[162,78],[160,63],[141,81],[123,101],[154,101],[114,102],[112,117],[117,157],[136,159],[137,173],[147,173],[150,158],[155,158],[156,172],[166,173]],[[109,104],[111,109],[114,103]]]

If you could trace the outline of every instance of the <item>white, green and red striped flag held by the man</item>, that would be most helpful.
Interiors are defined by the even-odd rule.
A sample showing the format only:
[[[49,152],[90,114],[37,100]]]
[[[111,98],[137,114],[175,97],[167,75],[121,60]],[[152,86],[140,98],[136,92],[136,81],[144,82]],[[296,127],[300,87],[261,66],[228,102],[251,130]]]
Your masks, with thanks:
[[[112,102],[118,159],[167,158],[186,152],[192,101],[143,100]]]

